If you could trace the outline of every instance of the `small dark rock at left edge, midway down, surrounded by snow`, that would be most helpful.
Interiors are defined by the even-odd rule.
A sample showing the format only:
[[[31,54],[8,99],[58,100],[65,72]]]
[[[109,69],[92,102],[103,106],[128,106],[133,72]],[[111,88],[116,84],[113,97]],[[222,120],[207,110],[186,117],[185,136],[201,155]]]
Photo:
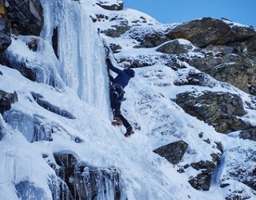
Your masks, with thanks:
[[[11,104],[17,101],[18,95],[16,92],[11,94],[0,90],[0,113],[3,114],[6,110],[10,110]]]

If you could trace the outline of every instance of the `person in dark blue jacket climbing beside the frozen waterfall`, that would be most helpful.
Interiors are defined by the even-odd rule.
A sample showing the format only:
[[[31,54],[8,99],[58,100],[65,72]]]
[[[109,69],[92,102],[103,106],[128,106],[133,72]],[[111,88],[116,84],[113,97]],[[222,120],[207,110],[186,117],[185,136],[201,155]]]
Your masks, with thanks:
[[[126,137],[130,137],[131,134],[134,134],[133,127],[130,125],[130,123],[124,118],[121,114],[121,103],[124,100],[124,88],[128,85],[128,82],[130,81],[130,78],[133,78],[135,75],[134,70],[127,68],[124,70],[119,70],[117,67],[113,66],[112,62],[110,61],[110,58],[106,56],[106,65],[107,67],[114,71],[116,74],[116,78],[113,78],[110,76],[110,106],[113,111],[114,120],[112,122],[112,125],[114,126],[125,126],[126,127]]]

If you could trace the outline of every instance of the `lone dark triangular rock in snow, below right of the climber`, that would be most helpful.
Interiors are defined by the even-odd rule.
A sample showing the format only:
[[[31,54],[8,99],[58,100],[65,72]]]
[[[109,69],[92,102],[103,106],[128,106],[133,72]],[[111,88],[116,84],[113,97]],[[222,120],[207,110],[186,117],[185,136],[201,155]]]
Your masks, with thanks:
[[[170,163],[177,164],[181,161],[189,145],[184,141],[177,141],[154,150],[154,153],[166,158]]]

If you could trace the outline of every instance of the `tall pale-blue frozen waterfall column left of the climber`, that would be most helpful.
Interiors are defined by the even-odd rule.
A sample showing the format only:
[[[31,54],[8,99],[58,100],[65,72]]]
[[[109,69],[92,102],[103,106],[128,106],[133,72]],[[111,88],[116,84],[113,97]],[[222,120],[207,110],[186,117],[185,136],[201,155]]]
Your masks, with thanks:
[[[58,73],[78,97],[108,114],[108,83],[105,52],[93,22],[81,4],[70,0],[43,1],[44,37],[51,40],[58,28]],[[51,42],[51,41],[50,41]]]

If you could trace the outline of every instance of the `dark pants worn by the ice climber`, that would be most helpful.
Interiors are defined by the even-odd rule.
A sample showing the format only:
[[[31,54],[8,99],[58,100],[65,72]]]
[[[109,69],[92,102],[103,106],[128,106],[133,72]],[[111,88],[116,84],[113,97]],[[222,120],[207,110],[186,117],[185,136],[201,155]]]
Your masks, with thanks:
[[[118,98],[118,93],[114,90],[110,90],[110,106],[113,111],[114,118],[120,118],[122,120],[123,126],[126,127],[127,131],[132,130],[132,126],[130,126],[130,123],[126,120],[125,117],[121,114],[121,100],[123,97]]]

